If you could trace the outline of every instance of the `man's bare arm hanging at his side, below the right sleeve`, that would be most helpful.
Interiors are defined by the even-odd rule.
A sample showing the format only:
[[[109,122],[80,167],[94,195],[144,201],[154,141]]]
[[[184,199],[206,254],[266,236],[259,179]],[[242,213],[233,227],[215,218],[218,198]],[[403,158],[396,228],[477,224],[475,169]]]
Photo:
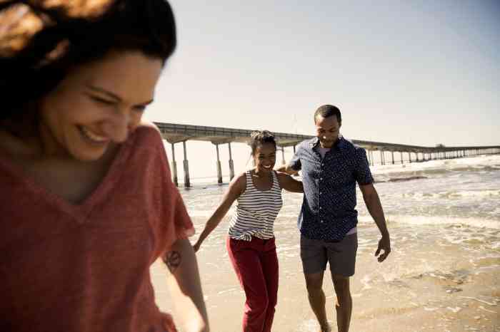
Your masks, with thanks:
[[[364,203],[368,208],[368,212],[370,212],[371,217],[374,219],[376,226],[379,227],[380,234],[382,235],[375,256],[378,256],[379,261],[384,261],[391,252],[391,238],[387,230],[386,218],[384,217],[384,210],[380,203],[379,194],[377,194],[373,183],[369,185],[359,185],[359,189],[363,193]],[[379,255],[381,250],[384,250],[384,253]]]

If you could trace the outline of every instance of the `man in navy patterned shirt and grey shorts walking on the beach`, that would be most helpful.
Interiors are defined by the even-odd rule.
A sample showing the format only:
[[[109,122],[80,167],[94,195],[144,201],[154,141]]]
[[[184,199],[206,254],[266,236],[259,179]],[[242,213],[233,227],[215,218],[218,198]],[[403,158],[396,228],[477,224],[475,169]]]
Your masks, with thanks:
[[[356,182],[381,232],[375,252],[380,262],[391,252],[391,240],[366,151],[339,135],[339,108],[321,106],[314,113],[314,123],[316,137],[301,142],[289,165],[280,170],[290,174],[302,170],[304,201],[298,225],[309,304],[321,331],[331,331],[322,289],[328,261],[337,298],[337,327],[339,332],[347,332],[352,311],[349,277],[354,275],[358,247]]]

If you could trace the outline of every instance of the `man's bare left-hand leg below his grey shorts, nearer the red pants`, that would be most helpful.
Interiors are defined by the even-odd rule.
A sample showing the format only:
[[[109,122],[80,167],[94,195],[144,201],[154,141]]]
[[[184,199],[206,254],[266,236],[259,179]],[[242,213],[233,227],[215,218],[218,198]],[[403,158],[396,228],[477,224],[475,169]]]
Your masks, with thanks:
[[[306,277],[306,287],[307,294],[309,298],[309,304],[311,309],[316,315],[319,326],[321,326],[321,332],[329,332],[330,327],[326,319],[326,299],[323,291],[323,274],[321,271],[316,274],[304,274]]]

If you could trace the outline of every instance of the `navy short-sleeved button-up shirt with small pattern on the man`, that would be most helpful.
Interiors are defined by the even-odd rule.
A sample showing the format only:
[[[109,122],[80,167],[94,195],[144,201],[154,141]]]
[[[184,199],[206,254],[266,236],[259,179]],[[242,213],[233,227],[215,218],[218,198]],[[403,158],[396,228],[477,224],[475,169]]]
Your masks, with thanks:
[[[293,170],[302,170],[304,201],[299,214],[301,234],[309,239],[340,241],[356,227],[356,182],[372,183],[366,151],[339,137],[321,157],[319,138],[299,144],[290,162]]]

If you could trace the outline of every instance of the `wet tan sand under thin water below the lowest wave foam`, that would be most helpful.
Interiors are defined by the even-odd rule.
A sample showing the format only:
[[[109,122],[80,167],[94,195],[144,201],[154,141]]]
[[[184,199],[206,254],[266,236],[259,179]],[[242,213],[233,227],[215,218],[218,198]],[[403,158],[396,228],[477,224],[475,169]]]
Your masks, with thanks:
[[[393,225],[392,229],[393,252],[382,264],[373,256],[376,229],[370,226],[359,229],[356,275],[351,279],[354,301],[351,331],[500,332],[500,258],[499,248],[491,247],[494,241],[488,244],[481,240],[464,247],[461,242],[454,244],[437,233],[433,237],[432,227]],[[459,238],[464,231],[476,232],[451,229],[449,233]],[[491,231],[490,239],[498,239],[499,233]],[[278,246],[279,235],[277,232]],[[316,332],[318,328],[307,301],[300,259],[294,252],[299,250],[298,236],[296,241],[279,250],[279,303],[273,326],[276,332]],[[490,247],[488,253],[485,247]],[[241,331],[244,293],[231,269],[224,244],[207,244],[198,259],[211,331]],[[165,272],[161,263],[154,264],[157,303],[171,311],[163,282]],[[335,326],[334,289],[328,271],[324,290],[329,320]]]

